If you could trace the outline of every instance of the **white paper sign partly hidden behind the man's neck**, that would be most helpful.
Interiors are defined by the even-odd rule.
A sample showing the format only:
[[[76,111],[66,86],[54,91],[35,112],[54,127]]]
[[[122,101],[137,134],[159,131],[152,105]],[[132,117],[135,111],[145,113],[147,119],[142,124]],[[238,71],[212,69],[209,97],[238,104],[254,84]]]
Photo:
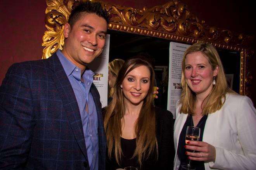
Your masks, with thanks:
[[[95,73],[93,83],[100,93],[102,107],[107,106],[107,78],[109,64],[109,40],[110,35],[106,35],[106,42],[102,53],[95,58],[88,67]]]

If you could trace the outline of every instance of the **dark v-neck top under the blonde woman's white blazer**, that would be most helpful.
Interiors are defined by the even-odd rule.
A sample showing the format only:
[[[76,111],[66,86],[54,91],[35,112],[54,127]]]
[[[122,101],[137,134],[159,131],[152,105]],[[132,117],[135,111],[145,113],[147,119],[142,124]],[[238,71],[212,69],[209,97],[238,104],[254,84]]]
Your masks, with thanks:
[[[207,115],[204,115],[197,124],[197,127],[200,128],[199,141],[202,141],[206,119],[207,119]],[[180,133],[178,150],[177,150],[177,155],[179,156],[179,159],[180,159],[180,165],[187,164],[187,155],[185,155],[186,149],[184,148],[187,126],[194,126],[191,114],[189,114],[189,116],[187,117],[187,120],[182,128],[181,133]],[[204,170],[204,161],[192,161],[191,160],[190,163],[193,167],[196,168],[196,170]],[[182,169],[182,167],[180,166],[179,169]]]

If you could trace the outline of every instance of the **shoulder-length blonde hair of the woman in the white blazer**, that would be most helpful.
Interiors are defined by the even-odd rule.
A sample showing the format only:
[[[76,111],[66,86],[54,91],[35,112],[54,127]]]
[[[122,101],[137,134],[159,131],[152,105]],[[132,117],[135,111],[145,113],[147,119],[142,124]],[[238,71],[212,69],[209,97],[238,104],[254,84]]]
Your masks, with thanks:
[[[202,108],[202,114],[207,115],[217,110],[221,109],[226,100],[226,93],[235,93],[227,85],[227,80],[225,77],[223,65],[220,60],[220,56],[217,50],[210,44],[195,43],[185,51],[182,59],[182,93],[180,97],[180,113],[189,113],[194,114],[195,109],[195,93],[190,89],[189,85],[185,80],[185,59],[188,54],[200,51],[206,59],[208,59],[212,70],[215,70],[217,67],[219,69],[218,75],[216,75],[216,85],[213,85],[213,88],[209,95],[204,99],[204,106]]]

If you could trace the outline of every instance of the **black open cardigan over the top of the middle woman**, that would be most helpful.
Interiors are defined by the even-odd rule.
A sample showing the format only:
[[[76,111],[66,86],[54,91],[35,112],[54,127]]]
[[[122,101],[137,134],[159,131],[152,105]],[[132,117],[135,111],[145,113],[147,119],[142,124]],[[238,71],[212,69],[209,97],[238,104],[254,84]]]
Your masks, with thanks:
[[[140,170],[170,170],[173,169],[173,160],[175,156],[173,143],[173,114],[168,110],[154,107],[156,112],[156,138],[158,145],[158,159],[154,160],[154,156],[150,156],[142,162]],[[104,111],[102,111],[105,114]],[[115,170],[119,167],[112,156],[111,160],[107,156],[106,170]],[[139,169],[140,167],[138,167]]]

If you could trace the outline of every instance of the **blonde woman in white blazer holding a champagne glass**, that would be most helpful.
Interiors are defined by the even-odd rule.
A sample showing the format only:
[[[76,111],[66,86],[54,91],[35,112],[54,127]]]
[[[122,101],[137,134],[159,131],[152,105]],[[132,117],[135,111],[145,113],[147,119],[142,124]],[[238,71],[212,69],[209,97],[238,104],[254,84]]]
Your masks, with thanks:
[[[185,51],[182,87],[174,125],[174,169],[182,169],[187,158],[197,170],[256,169],[256,110],[251,99],[228,88],[213,46],[197,43]],[[187,126],[201,128],[199,141],[185,144]]]

